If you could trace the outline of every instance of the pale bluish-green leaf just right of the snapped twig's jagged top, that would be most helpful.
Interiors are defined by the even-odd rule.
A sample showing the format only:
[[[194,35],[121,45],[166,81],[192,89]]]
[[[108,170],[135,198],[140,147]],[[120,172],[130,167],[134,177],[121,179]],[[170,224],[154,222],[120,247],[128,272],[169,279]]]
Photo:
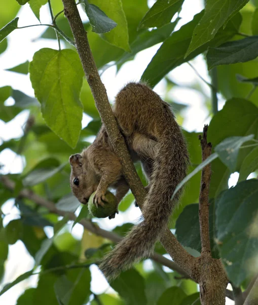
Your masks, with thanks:
[[[253,138],[253,135],[246,137],[229,137],[220,142],[214,150],[222,162],[234,172],[237,165],[238,151],[244,142]]]

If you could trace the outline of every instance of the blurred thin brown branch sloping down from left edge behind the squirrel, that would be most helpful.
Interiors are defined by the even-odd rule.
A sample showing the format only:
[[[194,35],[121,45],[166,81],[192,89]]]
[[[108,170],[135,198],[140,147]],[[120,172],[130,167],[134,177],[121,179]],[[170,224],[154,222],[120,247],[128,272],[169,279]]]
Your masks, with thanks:
[[[4,176],[4,175],[2,175],[0,177],[0,181],[3,183],[3,185],[6,188],[8,188],[11,191],[14,191],[14,189],[15,189],[14,181],[12,181],[11,179],[9,179],[7,176]],[[75,216],[75,214],[73,214],[71,212],[57,209],[53,202],[48,201],[48,200],[44,199],[43,197],[36,195],[35,193],[33,193],[30,190],[27,190],[27,189],[22,190],[19,193],[19,196],[30,199],[31,201],[35,202],[36,204],[46,207],[50,212],[52,212],[54,214],[57,214],[60,216],[68,215],[68,218],[72,221],[75,221],[77,218]],[[102,236],[102,237],[112,240],[114,242],[119,242],[122,240],[122,237],[119,236],[118,234],[100,229],[98,226],[94,225],[93,223],[91,223],[90,221],[87,221],[85,219],[80,221],[80,224],[85,229],[89,230],[90,232],[92,232],[98,236]],[[152,256],[152,259],[155,260],[156,262],[161,263],[162,265],[180,273],[180,275],[182,275],[183,277],[187,277],[188,279],[190,278],[188,276],[188,274],[185,271],[183,271],[176,263],[165,258],[164,256],[154,253]]]

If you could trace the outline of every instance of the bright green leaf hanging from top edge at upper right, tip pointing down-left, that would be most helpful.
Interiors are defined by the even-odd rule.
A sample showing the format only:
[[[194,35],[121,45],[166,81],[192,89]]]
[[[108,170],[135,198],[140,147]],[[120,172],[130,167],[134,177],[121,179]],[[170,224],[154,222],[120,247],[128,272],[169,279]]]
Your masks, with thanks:
[[[229,19],[234,16],[248,0],[207,0],[205,13],[195,26],[193,37],[185,57],[214,38],[218,29],[225,27]]]

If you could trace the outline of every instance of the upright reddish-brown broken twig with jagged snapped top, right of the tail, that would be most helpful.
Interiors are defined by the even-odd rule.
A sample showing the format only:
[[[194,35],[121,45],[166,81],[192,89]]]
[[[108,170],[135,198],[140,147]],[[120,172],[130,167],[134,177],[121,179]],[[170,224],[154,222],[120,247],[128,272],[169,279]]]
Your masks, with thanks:
[[[199,136],[202,146],[202,162],[211,155],[211,143],[207,143],[208,125],[204,125],[202,137]],[[211,257],[209,237],[209,186],[211,177],[211,165],[206,165],[202,170],[201,188],[199,196],[199,222],[201,234],[201,255]]]

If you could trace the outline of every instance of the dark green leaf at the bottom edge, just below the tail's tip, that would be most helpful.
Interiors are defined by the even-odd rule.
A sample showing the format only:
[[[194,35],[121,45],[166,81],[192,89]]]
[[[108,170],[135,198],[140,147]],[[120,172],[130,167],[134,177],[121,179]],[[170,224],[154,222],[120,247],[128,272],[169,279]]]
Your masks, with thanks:
[[[128,305],[147,304],[144,279],[135,269],[122,272],[118,279],[110,283],[110,286],[125,299]]]

